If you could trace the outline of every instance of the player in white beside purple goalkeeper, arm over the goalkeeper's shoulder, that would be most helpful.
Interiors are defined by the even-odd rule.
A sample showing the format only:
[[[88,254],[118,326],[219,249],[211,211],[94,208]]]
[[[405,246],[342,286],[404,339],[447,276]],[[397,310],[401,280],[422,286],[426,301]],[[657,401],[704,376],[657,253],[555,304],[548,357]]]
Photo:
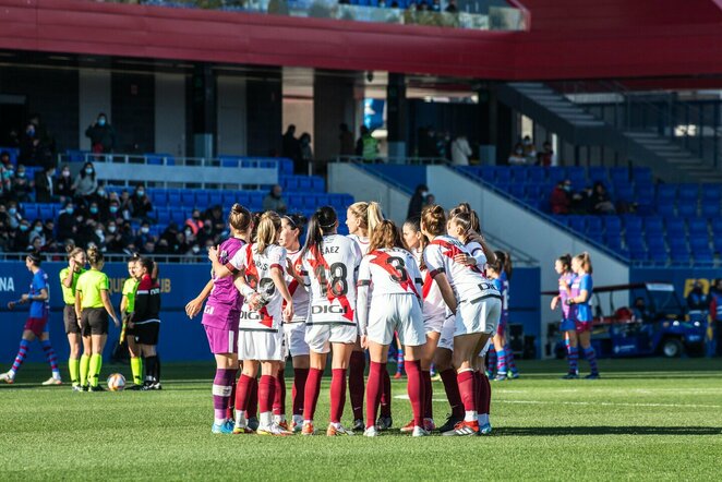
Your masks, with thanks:
[[[239,250],[224,269],[217,252],[209,251],[216,276],[236,273],[236,286],[244,297],[239,323],[238,358],[243,360],[237,397],[242,400],[236,411],[234,433],[248,433],[246,409],[250,386],[261,365],[258,382],[260,435],[288,435],[273,419],[276,376],[285,353],[282,321],[293,316],[293,299],[284,280],[286,250],[279,246],[280,217],[264,213],[258,222],[255,243]],[[282,302],[286,301],[286,308]]]

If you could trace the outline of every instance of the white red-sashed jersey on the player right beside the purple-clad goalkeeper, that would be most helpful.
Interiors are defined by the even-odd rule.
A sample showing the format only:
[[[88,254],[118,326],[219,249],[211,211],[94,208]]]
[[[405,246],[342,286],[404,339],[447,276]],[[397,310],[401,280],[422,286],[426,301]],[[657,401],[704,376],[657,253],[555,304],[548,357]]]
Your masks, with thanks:
[[[245,269],[245,282],[268,302],[258,311],[246,302],[241,308],[239,330],[278,332],[282,324],[282,297],[270,278],[274,267],[285,272],[286,250],[276,244],[266,248],[264,253],[255,250],[256,244],[246,244],[232,257],[230,264],[236,269]]]

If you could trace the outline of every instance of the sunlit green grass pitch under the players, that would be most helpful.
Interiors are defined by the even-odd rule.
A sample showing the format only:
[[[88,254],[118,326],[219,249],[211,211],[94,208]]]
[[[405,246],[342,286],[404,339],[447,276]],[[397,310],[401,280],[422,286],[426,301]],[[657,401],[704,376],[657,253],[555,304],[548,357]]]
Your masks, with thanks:
[[[722,478],[722,360],[601,361],[600,381],[562,381],[559,361],[520,367],[522,378],[493,383],[489,437],[401,435],[411,411],[396,398],[396,429],[378,438],[281,438],[210,434],[210,364],[165,364],[163,391],[101,394],[40,387],[49,370],[31,364],[0,387],[0,480]],[[130,374],[112,365],[103,374],[116,371]],[[405,395],[405,383],[393,386]],[[443,423],[443,385],[434,390]]]

